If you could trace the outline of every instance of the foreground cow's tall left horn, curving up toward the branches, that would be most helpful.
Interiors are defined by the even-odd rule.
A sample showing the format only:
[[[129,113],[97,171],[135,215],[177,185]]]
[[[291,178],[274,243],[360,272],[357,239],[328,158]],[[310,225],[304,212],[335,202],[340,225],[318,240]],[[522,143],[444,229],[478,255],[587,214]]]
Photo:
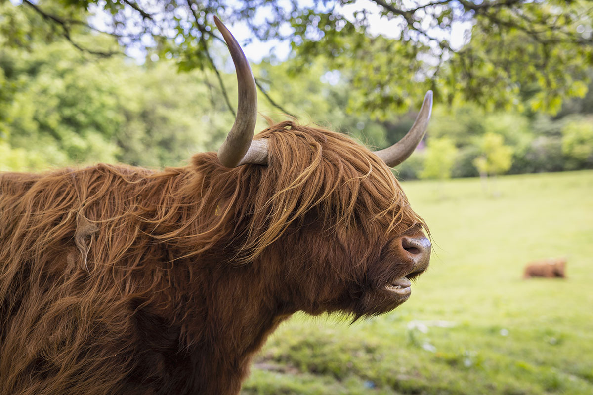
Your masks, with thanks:
[[[218,160],[228,168],[247,163],[267,165],[267,140],[251,141],[256,129],[257,88],[249,62],[241,50],[241,46],[221,20],[214,17],[214,23],[221,31],[224,40],[227,41],[232,62],[235,63],[239,88],[237,117],[227,139],[218,150]]]

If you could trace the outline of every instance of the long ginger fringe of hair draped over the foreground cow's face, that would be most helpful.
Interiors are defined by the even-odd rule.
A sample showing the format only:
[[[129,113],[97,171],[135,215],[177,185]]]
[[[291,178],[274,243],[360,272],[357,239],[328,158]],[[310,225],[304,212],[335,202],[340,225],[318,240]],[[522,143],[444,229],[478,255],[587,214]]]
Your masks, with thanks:
[[[187,256],[229,240],[236,252],[233,261],[240,264],[256,259],[313,209],[326,230],[364,228],[366,221],[388,221],[382,224],[385,233],[396,227],[400,233],[415,225],[426,228],[409,208],[390,169],[343,134],[285,121],[259,137],[270,139],[267,168],[225,169],[216,165],[212,153],[195,156],[197,173],[202,175],[192,187],[199,207],[193,218],[174,221],[183,225],[159,239],[192,249]],[[162,208],[171,212],[169,204]],[[152,221],[161,225],[167,213],[158,213]],[[235,227],[230,229],[230,224]]]

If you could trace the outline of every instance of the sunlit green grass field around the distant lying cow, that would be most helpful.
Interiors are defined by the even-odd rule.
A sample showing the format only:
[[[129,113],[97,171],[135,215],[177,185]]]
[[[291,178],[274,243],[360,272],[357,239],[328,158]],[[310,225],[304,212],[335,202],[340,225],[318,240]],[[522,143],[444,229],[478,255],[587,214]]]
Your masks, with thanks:
[[[593,394],[593,172],[403,187],[433,236],[410,300],[353,325],[297,314],[242,394]],[[566,280],[521,279],[548,257]]]

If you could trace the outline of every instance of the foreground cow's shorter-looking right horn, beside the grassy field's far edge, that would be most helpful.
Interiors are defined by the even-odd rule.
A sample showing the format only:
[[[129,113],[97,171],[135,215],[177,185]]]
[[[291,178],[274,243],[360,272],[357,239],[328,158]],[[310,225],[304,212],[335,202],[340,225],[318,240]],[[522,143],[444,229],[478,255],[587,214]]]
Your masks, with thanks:
[[[414,152],[416,146],[420,143],[422,137],[424,137],[426,127],[428,127],[428,121],[431,119],[431,111],[432,91],[428,91],[422,102],[420,112],[406,136],[391,147],[375,151],[375,155],[383,159],[390,168],[406,160],[408,156],[412,155],[412,152]]]

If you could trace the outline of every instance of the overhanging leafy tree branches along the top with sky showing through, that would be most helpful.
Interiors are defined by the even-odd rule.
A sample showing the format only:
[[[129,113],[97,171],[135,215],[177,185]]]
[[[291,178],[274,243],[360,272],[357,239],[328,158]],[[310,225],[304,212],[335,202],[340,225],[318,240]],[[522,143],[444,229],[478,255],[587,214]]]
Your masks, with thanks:
[[[238,37],[243,41],[289,43],[292,73],[306,74],[316,59],[342,70],[361,92],[351,109],[375,117],[419,104],[428,89],[436,101],[489,109],[525,102],[555,113],[563,98],[586,93],[585,71],[593,65],[593,7],[586,0],[23,0],[21,7],[41,23],[5,30],[11,44],[63,36],[81,50],[113,53],[112,45],[75,37],[87,28],[116,37],[129,51],[174,59],[181,70],[218,69],[222,40],[212,16],[219,15],[248,27],[248,37]]]

